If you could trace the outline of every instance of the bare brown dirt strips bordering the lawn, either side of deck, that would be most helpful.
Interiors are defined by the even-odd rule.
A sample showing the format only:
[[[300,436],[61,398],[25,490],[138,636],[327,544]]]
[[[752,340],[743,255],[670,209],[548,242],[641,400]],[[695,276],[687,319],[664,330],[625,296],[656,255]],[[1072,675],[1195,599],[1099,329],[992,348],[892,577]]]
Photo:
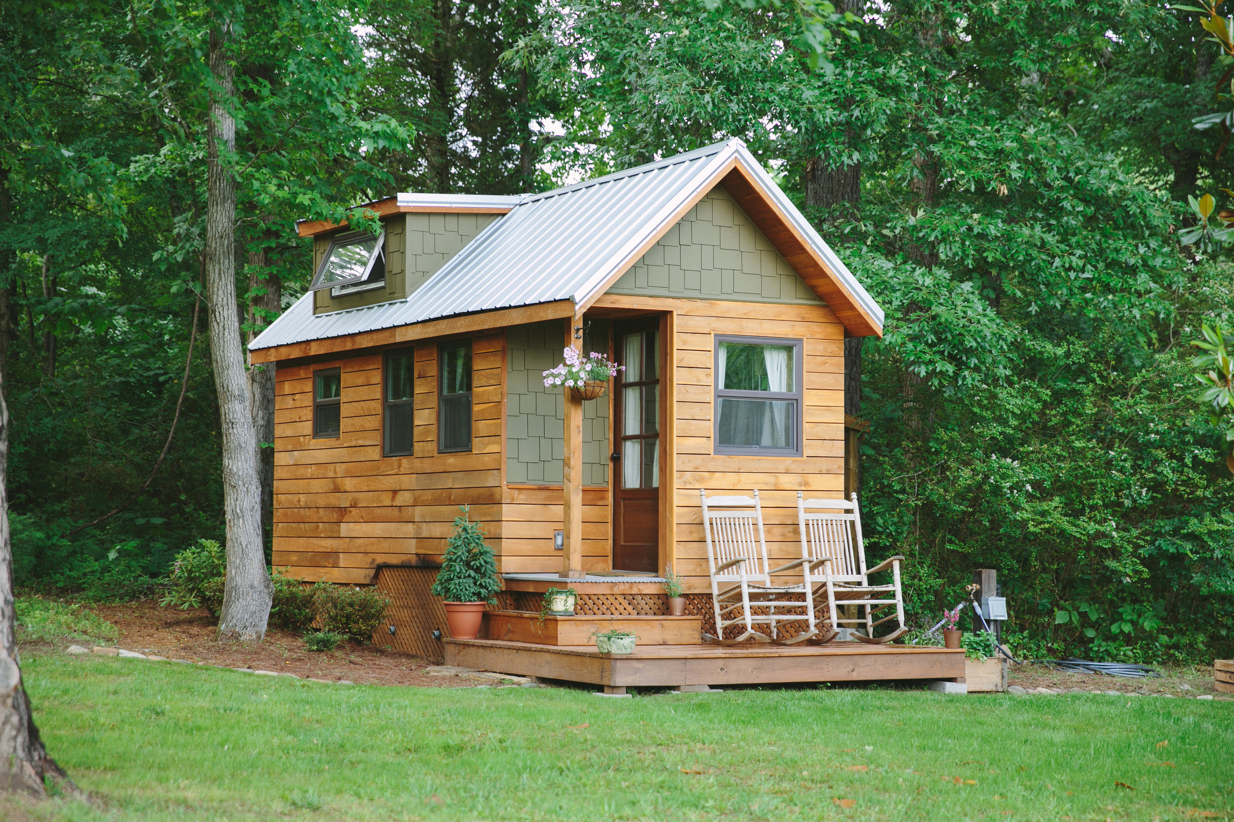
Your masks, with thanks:
[[[295,674],[301,678],[349,680],[366,685],[421,685],[428,687],[474,687],[484,680],[429,674],[437,663],[399,650],[386,650],[371,644],[343,644],[331,652],[315,653],[305,648],[304,639],[286,631],[271,629],[265,642],[251,647],[216,643],[215,622],[205,610],[180,611],[159,607],[154,600],[122,605],[91,606],[102,618],[120,629],[120,648],[172,659],[188,659],[207,665],[251,668]],[[63,643],[65,647],[68,642]],[[1009,685],[1025,689],[1119,691],[1172,694],[1174,696],[1217,695],[1212,668],[1162,666],[1162,676],[1128,679],[1101,674],[1075,674],[1046,665],[1012,665]],[[907,684],[906,684],[907,685]]]

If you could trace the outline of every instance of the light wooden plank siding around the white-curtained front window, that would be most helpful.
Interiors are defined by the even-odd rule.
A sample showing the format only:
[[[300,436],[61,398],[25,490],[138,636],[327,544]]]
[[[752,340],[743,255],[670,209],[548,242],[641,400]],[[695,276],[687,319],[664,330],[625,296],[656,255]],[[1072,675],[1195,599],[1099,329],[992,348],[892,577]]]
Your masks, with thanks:
[[[797,490],[842,497],[844,492],[844,327],[826,306],[768,305],[706,300],[664,300],[605,295],[597,307],[669,310],[675,390],[669,409],[674,423],[675,470],[669,525],[674,569],[687,592],[710,592],[707,547],[698,489],[708,494],[759,490],[768,554],[775,560],[801,557]],[[713,453],[712,365],[714,334],[781,337],[803,341],[803,457],[737,457]]]

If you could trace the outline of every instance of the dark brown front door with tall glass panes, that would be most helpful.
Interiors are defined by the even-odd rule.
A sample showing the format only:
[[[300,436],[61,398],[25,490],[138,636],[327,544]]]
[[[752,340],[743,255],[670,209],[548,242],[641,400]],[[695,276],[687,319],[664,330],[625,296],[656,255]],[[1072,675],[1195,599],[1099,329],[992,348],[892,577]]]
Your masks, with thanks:
[[[613,570],[656,573],[660,562],[659,322],[617,326],[618,389],[613,505]]]

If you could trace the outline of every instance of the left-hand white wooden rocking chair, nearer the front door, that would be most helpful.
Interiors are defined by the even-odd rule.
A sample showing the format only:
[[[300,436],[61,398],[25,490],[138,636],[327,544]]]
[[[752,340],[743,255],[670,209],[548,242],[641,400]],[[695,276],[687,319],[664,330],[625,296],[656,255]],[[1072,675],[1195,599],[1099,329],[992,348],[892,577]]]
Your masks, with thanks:
[[[810,563],[796,559],[787,565],[768,569],[768,547],[763,536],[763,506],[754,496],[702,497],[703,532],[707,537],[707,567],[711,571],[711,599],[716,611],[716,636],[706,642],[732,646],[745,639],[791,646],[817,636],[811,592]],[[713,509],[726,509],[716,511]],[[800,583],[775,585],[771,574],[802,569]],[[753,608],[763,613],[754,613]],[[782,638],[780,626],[805,622],[806,629]],[[754,629],[770,628],[770,637]],[[737,626],[738,636],[726,639],[724,629]]]

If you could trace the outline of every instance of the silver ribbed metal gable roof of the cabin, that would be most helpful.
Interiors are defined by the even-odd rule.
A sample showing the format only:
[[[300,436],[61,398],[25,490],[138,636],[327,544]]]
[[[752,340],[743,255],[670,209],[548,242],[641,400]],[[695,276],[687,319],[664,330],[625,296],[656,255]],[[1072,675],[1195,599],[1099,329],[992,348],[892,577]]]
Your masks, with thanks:
[[[478,196],[485,201],[508,200],[513,207],[407,297],[313,316],[312,294],[306,294],[249,348],[273,348],[557,300],[585,304],[613,274],[637,262],[640,249],[682,206],[716,185],[734,158],[758,179],[765,195],[775,200],[814,247],[842,286],[881,326],[882,309],[745,144],[731,139],[543,194]],[[402,205],[404,197],[433,196],[400,194],[399,200]],[[457,204],[458,196],[449,196],[449,201]]]

